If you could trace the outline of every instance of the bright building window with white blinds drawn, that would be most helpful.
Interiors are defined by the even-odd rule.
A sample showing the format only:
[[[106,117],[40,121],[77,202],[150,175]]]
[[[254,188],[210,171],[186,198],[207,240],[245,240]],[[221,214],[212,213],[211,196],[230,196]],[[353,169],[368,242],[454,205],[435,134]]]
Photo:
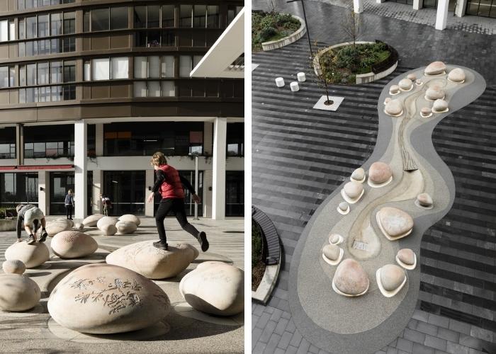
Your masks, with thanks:
[[[99,58],[84,62],[84,81],[128,78],[128,57]]]

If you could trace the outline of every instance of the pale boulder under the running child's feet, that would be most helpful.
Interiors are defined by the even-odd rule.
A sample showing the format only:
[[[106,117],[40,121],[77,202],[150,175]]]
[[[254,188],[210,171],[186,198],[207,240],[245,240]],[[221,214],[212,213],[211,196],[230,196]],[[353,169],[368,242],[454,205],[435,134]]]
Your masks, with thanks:
[[[191,244],[169,245],[169,251],[165,251],[154,247],[152,241],[142,241],[113,251],[106,257],[106,262],[129,268],[150,279],[164,279],[181,273],[198,254]]]

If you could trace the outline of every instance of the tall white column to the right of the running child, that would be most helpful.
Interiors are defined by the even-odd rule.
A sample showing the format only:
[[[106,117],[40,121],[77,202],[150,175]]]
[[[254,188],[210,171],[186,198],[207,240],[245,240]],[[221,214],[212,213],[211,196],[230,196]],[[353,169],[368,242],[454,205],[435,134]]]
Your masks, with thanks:
[[[212,219],[225,219],[225,154],[227,118],[213,123]]]

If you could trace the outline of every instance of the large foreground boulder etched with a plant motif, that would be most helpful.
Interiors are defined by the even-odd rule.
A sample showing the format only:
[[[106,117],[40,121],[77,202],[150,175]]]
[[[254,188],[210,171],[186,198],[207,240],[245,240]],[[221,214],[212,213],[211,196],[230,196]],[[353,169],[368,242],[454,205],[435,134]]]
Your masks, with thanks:
[[[48,299],[60,326],[83,333],[122,333],[164,319],[169,297],[151,280],[110,264],[89,264],[63,278]]]

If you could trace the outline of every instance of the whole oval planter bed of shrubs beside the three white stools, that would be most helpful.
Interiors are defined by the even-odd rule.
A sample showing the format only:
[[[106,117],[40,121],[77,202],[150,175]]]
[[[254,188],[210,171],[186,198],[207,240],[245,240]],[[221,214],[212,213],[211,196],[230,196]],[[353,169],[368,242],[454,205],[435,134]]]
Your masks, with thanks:
[[[328,84],[365,84],[388,76],[398,65],[398,52],[384,42],[344,42],[315,55],[315,74]]]

